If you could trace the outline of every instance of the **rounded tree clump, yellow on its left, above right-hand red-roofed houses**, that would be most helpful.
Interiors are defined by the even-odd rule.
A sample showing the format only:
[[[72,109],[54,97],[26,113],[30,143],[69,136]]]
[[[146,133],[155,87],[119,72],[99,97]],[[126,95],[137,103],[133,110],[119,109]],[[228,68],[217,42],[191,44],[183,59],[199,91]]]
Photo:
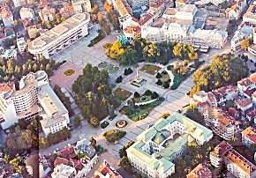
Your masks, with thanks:
[[[211,91],[223,85],[235,85],[241,78],[248,75],[246,63],[231,53],[216,55],[213,61],[193,74],[193,83],[190,95],[200,90]]]

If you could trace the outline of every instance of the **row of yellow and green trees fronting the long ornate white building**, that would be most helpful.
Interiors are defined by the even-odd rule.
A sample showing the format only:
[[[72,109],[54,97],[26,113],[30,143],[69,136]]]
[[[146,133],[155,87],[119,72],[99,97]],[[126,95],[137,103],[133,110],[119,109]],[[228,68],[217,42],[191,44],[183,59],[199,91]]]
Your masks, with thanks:
[[[147,60],[150,63],[166,64],[170,59],[178,58],[182,60],[198,60],[198,53],[189,44],[172,41],[151,42],[144,38],[136,38],[132,44],[122,44],[115,41],[113,44],[103,45],[107,56],[117,59],[120,65],[136,63]]]

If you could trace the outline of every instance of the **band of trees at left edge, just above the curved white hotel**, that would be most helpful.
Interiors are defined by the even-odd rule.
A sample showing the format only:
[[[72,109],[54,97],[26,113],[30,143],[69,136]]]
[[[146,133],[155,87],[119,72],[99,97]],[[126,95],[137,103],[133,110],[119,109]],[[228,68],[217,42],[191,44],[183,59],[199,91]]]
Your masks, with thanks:
[[[8,60],[0,58],[0,82],[19,82],[21,76],[26,76],[29,72],[37,70],[45,70],[50,77],[57,67],[54,60],[46,59],[43,56],[38,61],[28,59],[26,62],[19,61],[19,63],[12,58]]]

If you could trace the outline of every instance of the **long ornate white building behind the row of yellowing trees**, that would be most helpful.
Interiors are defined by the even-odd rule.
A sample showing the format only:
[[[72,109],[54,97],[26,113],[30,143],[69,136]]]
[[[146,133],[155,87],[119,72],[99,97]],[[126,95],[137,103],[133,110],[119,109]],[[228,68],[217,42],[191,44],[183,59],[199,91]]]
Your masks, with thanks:
[[[160,27],[147,27],[141,29],[141,37],[148,41],[179,41],[192,46],[206,46],[223,48],[228,33],[222,30],[195,29],[194,26],[185,26],[178,23],[164,23]]]

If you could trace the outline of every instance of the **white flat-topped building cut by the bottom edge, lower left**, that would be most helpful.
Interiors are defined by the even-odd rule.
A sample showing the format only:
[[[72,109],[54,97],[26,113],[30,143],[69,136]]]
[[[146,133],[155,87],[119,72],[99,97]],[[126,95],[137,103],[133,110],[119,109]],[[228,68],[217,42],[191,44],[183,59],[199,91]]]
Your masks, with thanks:
[[[74,167],[67,165],[58,165],[54,168],[53,173],[51,174],[52,178],[72,178],[77,174],[77,171]]]

